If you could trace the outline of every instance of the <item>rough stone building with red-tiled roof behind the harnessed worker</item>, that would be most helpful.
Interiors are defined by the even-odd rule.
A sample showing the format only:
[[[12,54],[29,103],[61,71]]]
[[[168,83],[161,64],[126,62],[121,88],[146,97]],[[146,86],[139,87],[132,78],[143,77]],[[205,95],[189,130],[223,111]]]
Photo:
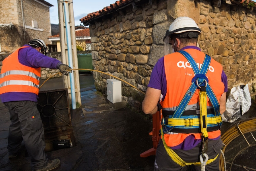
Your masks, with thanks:
[[[180,16],[193,18],[202,30],[201,50],[220,62],[228,88],[256,80],[255,2],[247,0],[120,0],[81,18],[89,25],[93,66],[146,91],[152,69],[163,56],[163,37]],[[105,93],[106,79],[95,73],[95,86]],[[122,95],[139,104],[144,96],[122,84]],[[135,99],[135,101],[134,101]]]

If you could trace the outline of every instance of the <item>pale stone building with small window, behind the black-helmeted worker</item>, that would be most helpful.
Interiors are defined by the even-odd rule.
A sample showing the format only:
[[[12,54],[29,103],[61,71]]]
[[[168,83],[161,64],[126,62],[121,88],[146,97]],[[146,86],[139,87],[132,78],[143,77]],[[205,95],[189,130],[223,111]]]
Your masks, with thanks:
[[[33,38],[50,44],[50,7],[45,0],[0,0],[0,51],[13,52]]]

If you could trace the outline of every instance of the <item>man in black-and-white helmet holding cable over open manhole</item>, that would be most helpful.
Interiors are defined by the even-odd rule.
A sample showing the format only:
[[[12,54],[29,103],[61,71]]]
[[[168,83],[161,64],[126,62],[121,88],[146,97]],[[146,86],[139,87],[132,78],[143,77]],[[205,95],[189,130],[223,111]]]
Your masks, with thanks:
[[[37,110],[41,67],[59,69],[65,75],[71,72],[68,65],[45,56],[46,52],[45,42],[33,39],[3,60],[0,74],[0,99],[8,107],[11,121],[9,158],[26,148],[33,171],[49,171],[60,165],[59,159],[49,160],[44,152],[43,124]]]

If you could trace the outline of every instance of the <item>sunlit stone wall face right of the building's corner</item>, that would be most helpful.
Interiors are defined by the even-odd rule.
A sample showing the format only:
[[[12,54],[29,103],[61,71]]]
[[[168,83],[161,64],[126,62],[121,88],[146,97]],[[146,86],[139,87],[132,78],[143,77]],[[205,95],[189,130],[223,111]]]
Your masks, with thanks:
[[[231,89],[240,84],[255,83],[256,13],[245,7],[222,4],[213,8],[208,1],[200,3],[202,30],[199,45],[203,52],[220,62]]]

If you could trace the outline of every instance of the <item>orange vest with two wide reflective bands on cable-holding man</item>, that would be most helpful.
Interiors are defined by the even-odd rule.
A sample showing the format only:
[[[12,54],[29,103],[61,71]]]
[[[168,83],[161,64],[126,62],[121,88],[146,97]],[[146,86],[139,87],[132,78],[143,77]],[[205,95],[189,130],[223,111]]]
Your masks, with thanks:
[[[19,50],[29,48],[23,46],[3,60],[0,74],[0,94],[8,92],[39,92],[41,68],[31,68],[21,64],[18,60]]]

